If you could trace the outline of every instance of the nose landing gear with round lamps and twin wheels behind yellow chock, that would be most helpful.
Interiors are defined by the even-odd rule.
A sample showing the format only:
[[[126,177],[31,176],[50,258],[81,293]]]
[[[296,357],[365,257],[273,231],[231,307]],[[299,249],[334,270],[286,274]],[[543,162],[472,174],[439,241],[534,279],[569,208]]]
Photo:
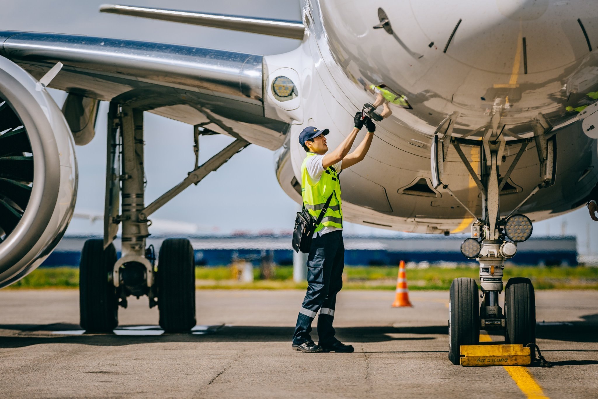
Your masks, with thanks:
[[[525,215],[516,214],[538,190],[554,184],[556,176],[556,136],[551,133],[551,126],[538,115],[535,121],[533,138],[517,138],[505,141],[498,129],[500,109],[486,129],[481,141],[466,139],[466,136],[452,136],[452,126],[457,113],[449,115],[438,127],[432,143],[432,181],[435,187],[442,186],[460,205],[474,217],[471,226],[471,238],[463,241],[461,252],[465,257],[476,259],[480,263],[480,290],[474,279],[454,279],[450,287],[449,303],[449,359],[453,364],[460,364],[460,346],[477,345],[480,342],[480,330],[504,332],[505,341],[512,344],[535,344],[536,310],[532,282],[527,278],[511,278],[503,286],[502,277],[505,259],[517,252],[517,243],[532,235],[532,223]],[[475,132],[475,131],[474,131]],[[472,132],[472,133],[474,133]],[[520,160],[527,145],[535,141],[540,161],[541,182],[507,217],[501,218],[499,212],[499,193]],[[449,151],[449,145],[459,154],[469,173],[481,191],[482,215],[480,218],[463,204],[447,184],[443,184],[443,163]],[[465,157],[461,145],[480,147],[480,175],[475,172]],[[505,147],[519,147],[517,156],[509,166],[505,176],[498,174],[503,160]],[[504,307],[499,305],[499,294],[505,291]],[[481,303],[480,303],[481,299]],[[532,360],[535,351],[532,348]]]

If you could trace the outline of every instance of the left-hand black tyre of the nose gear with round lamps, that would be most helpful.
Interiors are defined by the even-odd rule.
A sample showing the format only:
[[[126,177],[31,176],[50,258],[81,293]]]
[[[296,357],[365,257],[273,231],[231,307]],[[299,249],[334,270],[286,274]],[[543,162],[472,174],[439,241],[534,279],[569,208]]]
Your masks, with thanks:
[[[480,343],[478,285],[474,279],[457,278],[450,285],[449,360],[460,363],[460,346]]]

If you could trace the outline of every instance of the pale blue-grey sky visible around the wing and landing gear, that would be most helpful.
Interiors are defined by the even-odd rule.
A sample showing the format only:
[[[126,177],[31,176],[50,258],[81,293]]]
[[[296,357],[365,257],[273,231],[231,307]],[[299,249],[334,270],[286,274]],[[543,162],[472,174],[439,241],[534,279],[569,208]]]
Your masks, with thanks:
[[[93,36],[138,39],[196,45],[254,54],[277,54],[298,45],[292,39],[252,33],[224,31],[178,23],[103,14],[97,10],[103,1],[90,0],[19,0],[2,1],[0,26],[3,30],[80,33]],[[167,7],[177,10],[243,16],[300,19],[298,0],[127,0],[125,4]],[[62,104],[65,94],[53,90]],[[76,211],[102,214],[105,179],[106,103],[102,103],[96,125],[96,137],[84,147],[77,147],[80,170]],[[193,127],[184,123],[145,114],[145,157],[148,178],[146,203],[169,190],[193,168]],[[224,136],[207,136],[200,142],[200,160],[206,160],[231,141]],[[266,199],[266,200],[265,200]],[[265,212],[264,202],[268,203]],[[154,214],[156,219],[206,226],[208,231],[229,233],[288,232],[292,229],[298,205],[282,191],[274,175],[273,152],[251,145],[237,154],[197,186],[191,186]],[[265,215],[273,215],[266,218]],[[387,230],[350,225],[347,233],[388,234]],[[151,232],[150,228],[150,232]],[[590,239],[588,241],[588,231]],[[68,233],[101,233],[102,222],[75,219]],[[536,223],[534,235],[578,236],[582,254],[588,248],[598,252],[598,223],[590,220],[582,208],[562,217]]]

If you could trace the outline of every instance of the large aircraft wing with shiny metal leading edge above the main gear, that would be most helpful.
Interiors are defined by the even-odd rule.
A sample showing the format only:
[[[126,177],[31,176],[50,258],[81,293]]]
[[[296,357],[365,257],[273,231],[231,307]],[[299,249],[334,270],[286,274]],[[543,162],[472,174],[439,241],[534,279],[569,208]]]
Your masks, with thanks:
[[[264,116],[262,56],[186,45],[0,31],[0,55],[49,87],[117,101],[274,150],[289,124]]]

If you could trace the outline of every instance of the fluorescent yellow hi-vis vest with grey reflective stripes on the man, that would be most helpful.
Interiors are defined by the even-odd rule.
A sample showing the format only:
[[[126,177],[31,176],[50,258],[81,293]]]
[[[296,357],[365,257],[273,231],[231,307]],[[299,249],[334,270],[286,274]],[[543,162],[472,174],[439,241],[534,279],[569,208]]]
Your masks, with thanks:
[[[307,173],[306,163],[309,157],[315,156],[315,153],[307,153],[307,157],[301,164],[301,197],[303,197],[303,205],[307,211],[314,218],[318,218],[326,200],[334,191],[334,195],[328,205],[328,211],[322,218],[315,230],[315,233],[324,229],[324,226],[343,227],[343,210],[341,209],[340,200],[340,181],[338,180],[338,173],[334,167],[329,166],[322,172],[322,177],[318,182],[314,182]]]

